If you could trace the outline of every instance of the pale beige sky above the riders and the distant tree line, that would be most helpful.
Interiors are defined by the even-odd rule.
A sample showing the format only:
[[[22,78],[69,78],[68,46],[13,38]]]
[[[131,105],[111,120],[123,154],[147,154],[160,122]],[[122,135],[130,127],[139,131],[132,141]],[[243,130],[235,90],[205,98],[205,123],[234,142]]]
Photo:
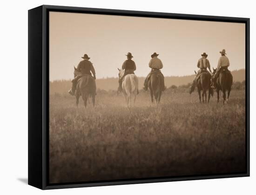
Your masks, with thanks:
[[[87,13],[49,13],[50,81],[72,79],[85,53],[96,78],[118,77],[117,68],[134,56],[135,74],[146,77],[151,54],[159,53],[164,76],[194,74],[206,52],[211,67],[226,49],[229,70],[245,68],[245,24]]]

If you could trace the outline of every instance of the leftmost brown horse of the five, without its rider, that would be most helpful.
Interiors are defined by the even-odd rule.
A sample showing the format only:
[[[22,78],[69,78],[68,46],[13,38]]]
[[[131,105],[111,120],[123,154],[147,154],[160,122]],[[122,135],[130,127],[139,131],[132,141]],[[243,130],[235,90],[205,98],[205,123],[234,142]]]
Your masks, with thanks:
[[[81,72],[77,71],[74,67],[74,78],[81,75]],[[93,106],[95,105],[96,85],[95,80],[91,75],[84,75],[78,81],[76,85],[75,97],[76,106],[79,104],[79,97],[81,96],[84,102],[84,106],[87,106],[87,100],[92,97]]]

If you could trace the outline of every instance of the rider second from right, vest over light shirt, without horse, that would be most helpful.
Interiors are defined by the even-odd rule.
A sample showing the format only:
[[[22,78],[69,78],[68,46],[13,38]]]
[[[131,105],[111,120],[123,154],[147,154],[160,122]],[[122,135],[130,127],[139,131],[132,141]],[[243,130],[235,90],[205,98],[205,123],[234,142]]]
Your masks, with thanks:
[[[202,58],[198,59],[198,61],[197,61],[197,68],[199,68],[199,70],[195,74],[193,84],[191,85],[191,88],[190,88],[190,93],[192,93],[195,90],[197,79],[199,78],[199,76],[202,72],[208,72],[209,74],[212,72],[210,62],[207,59],[208,54],[203,52],[201,54],[201,56],[202,56]],[[210,72],[207,70],[207,68],[209,69]]]

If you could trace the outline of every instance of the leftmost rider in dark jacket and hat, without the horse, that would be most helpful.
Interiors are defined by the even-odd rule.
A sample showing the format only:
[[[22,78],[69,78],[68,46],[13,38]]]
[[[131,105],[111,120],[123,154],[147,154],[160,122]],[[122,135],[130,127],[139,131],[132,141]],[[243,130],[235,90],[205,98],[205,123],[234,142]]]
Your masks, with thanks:
[[[92,76],[93,73],[93,78],[94,80],[96,79],[96,74],[95,74],[95,70],[94,70],[94,66],[93,64],[89,61],[89,57],[87,54],[84,54],[83,60],[77,65],[77,71],[81,72],[80,75],[77,75],[73,80],[72,80],[72,88],[68,91],[68,93],[72,96],[74,96],[74,92],[76,90],[76,85],[77,85],[77,81],[79,80],[79,78],[85,76],[85,75],[90,75]],[[95,84],[95,81],[94,81]]]

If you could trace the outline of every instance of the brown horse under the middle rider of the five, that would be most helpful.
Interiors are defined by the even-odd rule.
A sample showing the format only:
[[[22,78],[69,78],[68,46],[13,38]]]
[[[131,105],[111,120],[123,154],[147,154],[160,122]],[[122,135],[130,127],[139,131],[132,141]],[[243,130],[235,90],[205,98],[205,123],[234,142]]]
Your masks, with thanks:
[[[152,72],[150,75],[150,78],[148,79],[148,88],[150,91],[150,97],[151,97],[151,102],[154,103],[154,97],[155,97],[155,102],[158,105],[161,100],[162,96],[162,89],[164,86],[162,86],[162,75],[161,72],[155,71]]]

